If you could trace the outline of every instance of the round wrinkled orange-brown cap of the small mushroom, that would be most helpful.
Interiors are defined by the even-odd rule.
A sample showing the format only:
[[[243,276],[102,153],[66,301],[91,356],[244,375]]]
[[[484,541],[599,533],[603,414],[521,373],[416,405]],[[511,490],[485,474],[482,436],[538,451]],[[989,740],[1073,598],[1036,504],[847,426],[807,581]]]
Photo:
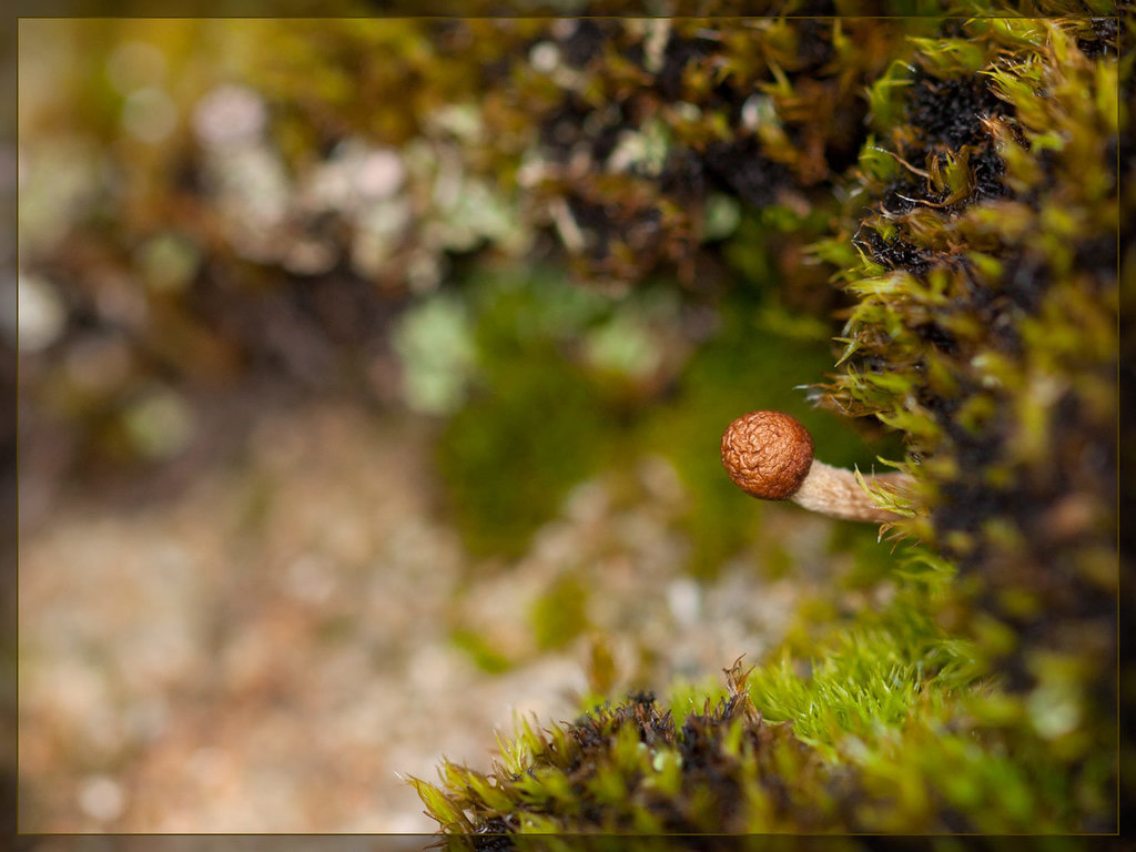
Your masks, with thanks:
[[[785,500],[796,493],[812,467],[812,436],[795,417],[751,411],[721,436],[721,463],[745,493]]]

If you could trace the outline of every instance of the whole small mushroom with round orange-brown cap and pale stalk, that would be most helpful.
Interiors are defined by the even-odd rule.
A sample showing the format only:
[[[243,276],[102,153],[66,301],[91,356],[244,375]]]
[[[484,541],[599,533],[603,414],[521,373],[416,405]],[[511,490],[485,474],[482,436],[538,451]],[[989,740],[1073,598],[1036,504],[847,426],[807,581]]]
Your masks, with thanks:
[[[809,431],[780,411],[751,411],[734,420],[721,436],[721,463],[742,491],[762,500],[792,500],[845,520],[901,517],[877,506],[852,470],[815,461]],[[896,486],[911,482],[899,473],[874,479]]]

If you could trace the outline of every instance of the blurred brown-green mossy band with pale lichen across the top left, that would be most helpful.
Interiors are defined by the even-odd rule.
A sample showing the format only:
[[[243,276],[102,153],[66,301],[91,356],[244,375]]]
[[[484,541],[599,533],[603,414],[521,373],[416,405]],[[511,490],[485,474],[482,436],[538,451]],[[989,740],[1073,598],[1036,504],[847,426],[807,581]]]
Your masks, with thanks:
[[[754,227],[760,262],[796,270],[768,318],[819,332],[800,315],[833,292],[801,253],[854,158],[857,86],[901,41],[772,18],[26,20],[23,290],[45,307],[25,398],[65,471],[164,462],[181,444],[154,456],[120,423],[132,385],[187,406],[244,376],[373,392],[391,315],[467,260],[712,300],[719,243]],[[625,316],[590,359],[626,382],[649,337]],[[91,348],[112,354],[76,375]],[[465,368],[438,357],[402,390],[441,414]]]

